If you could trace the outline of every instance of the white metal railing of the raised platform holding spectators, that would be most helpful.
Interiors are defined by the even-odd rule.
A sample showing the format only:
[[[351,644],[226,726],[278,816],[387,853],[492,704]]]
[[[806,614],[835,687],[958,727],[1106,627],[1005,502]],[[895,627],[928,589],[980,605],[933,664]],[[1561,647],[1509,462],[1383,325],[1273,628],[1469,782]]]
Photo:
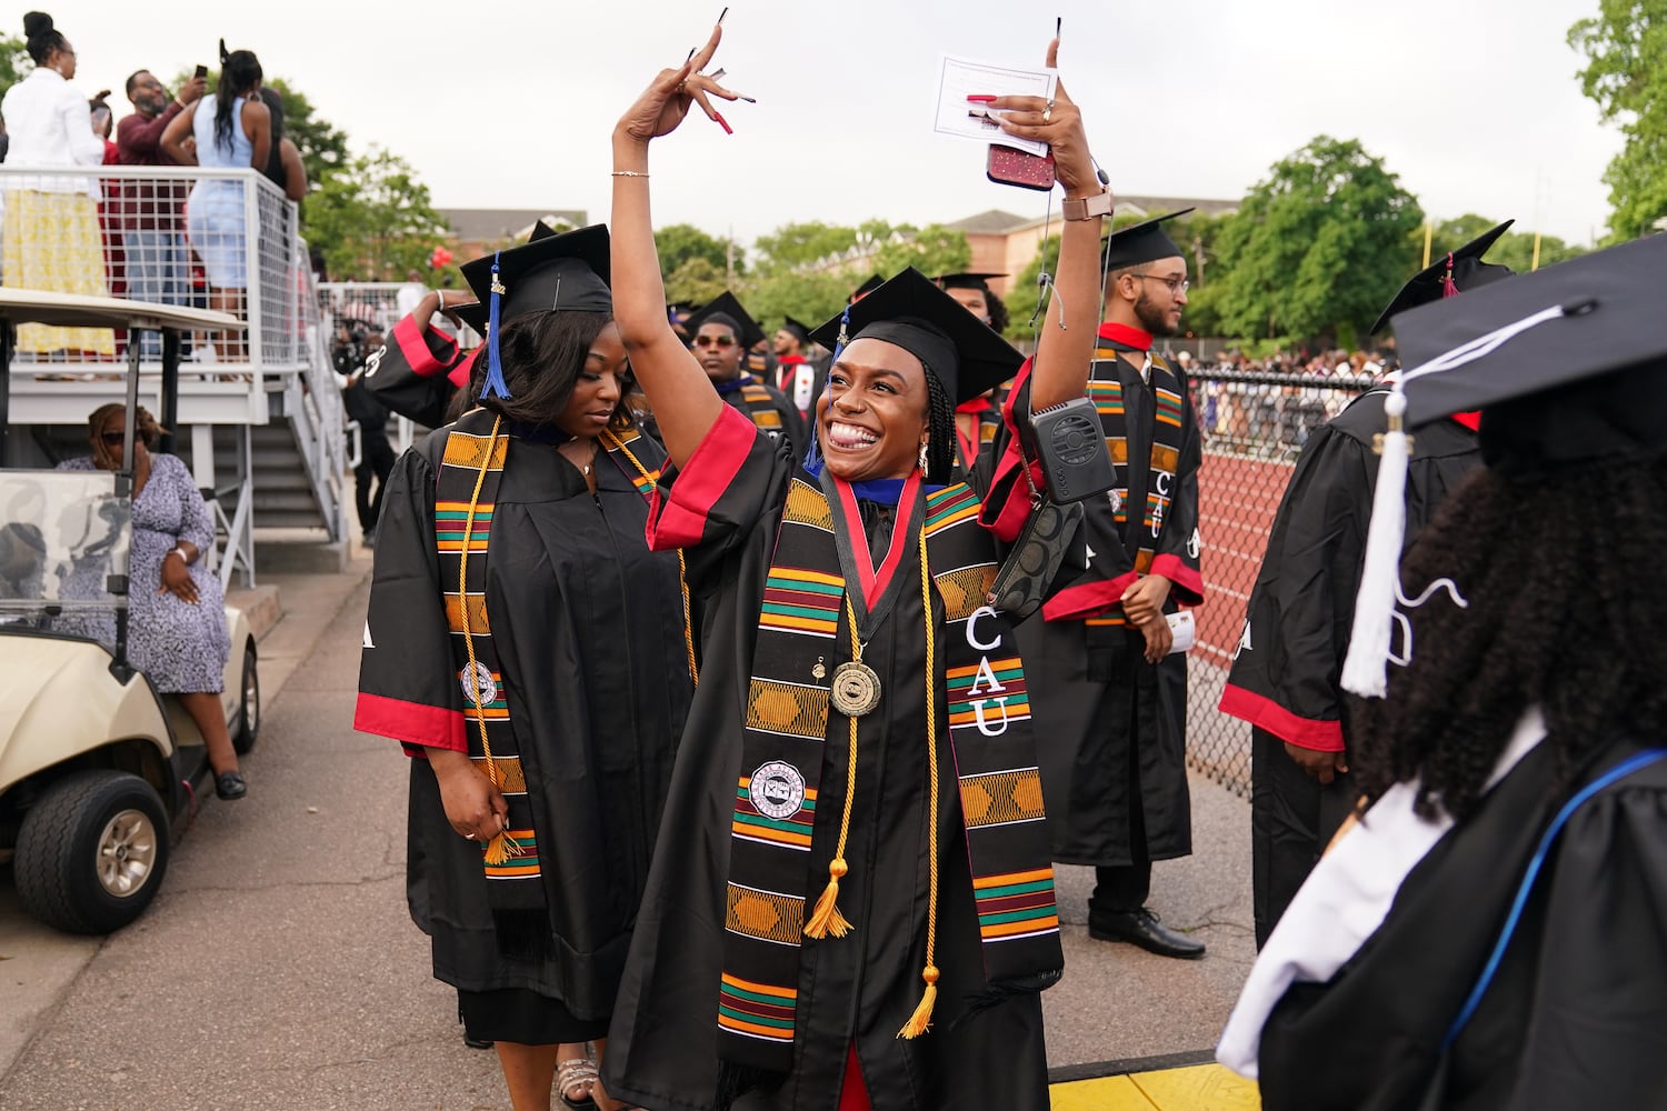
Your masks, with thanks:
[[[298,210],[282,190],[252,168],[0,165],[0,213],[3,285],[195,305],[243,318],[242,336],[182,338],[178,423],[263,425],[270,400],[282,396],[330,536],[347,536],[338,383]],[[20,326],[8,376],[13,423],[83,421],[88,400],[122,380],[127,343],[122,331]],[[140,401],[158,413],[160,358],[160,340],[142,336]],[[212,465],[198,478],[220,486]],[[247,470],[238,516],[243,506],[253,511]],[[227,565],[250,558],[252,525],[237,525],[227,521],[228,535],[245,541]],[[252,578],[252,568],[245,571]]]

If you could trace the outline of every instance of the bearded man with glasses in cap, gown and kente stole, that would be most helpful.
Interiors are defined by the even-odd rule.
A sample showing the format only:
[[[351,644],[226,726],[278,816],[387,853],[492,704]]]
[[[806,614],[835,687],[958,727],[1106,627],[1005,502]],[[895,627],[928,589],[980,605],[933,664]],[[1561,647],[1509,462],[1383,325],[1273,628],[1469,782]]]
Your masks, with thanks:
[[[1187,210],[1190,212],[1190,210]],[[1204,600],[1199,576],[1199,426],[1187,383],[1152,340],[1187,303],[1170,213],[1115,232],[1089,396],[1119,488],[1084,503],[1075,560],[1042,613],[1020,626],[1035,660],[1037,740],[1054,859],[1094,864],[1089,933],[1162,956],[1204,944],[1147,909],[1152,861],[1192,853],[1187,660],[1169,655],[1167,613]]]

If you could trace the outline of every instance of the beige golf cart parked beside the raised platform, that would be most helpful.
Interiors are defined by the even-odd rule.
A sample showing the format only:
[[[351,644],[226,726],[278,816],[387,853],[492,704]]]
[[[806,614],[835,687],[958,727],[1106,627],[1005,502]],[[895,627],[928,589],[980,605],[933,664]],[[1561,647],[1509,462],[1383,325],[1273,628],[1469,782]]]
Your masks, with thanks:
[[[138,331],[162,331],[162,420],[172,428],[180,333],[243,323],[172,305],[0,288],[0,461],[15,325],[27,321],[130,335],[123,470],[0,470],[0,863],[12,861],[32,916],[97,934],[145,911],[182,818],[212,788],[197,725],[128,660]],[[255,640],[240,611],[227,606],[225,618],[232,653],[220,701],[237,751],[247,753],[260,728]]]

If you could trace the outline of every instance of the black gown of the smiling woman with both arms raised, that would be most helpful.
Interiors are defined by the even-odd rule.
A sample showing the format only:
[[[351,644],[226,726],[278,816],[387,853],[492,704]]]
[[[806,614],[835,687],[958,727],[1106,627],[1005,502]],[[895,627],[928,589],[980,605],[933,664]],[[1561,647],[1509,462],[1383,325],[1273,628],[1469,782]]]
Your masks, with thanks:
[[[677,516],[682,528],[695,521],[685,558],[690,583],[708,615],[705,653],[603,1061],[610,1096],[655,1111],[707,1111],[715,1104],[723,893],[745,733],[743,701],[763,583],[795,471],[793,453],[780,443],[762,435],[727,440],[728,448],[722,448],[708,436],[673,485],[673,493],[675,486],[683,488],[673,503],[693,511]],[[870,550],[884,555],[892,510],[875,503],[860,508]],[[670,511],[662,516],[670,518]],[[882,678],[885,698],[880,710],[862,720],[859,733],[845,851],[850,874],[840,881],[839,896],[855,929],[837,939],[803,939],[792,1073],[773,1093],[742,1096],[737,1111],[834,1111],[852,1043],[875,1111],[1049,1106],[1040,998],[1019,994],[975,1014],[964,1004],[987,984],[947,741],[939,751],[937,815],[935,959],[942,981],[930,1033],[912,1041],[897,1036],[920,1001],[930,864],[929,763],[922,745],[927,660],[920,563],[912,545],[892,590],[899,591],[897,601],[864,651],[864,661]],[[944,610],[935,593],[932,608],[934,621],[942,626]],[[828,666],[845,658],[840,655]],[[942,696],[940,686],[940,703]],[[839,715],[830,715],[823,798],[844,800],[852,790],[847,755],[845,726]],[[817,811],[807,888],[812,899],[825,883],[839,826],[840,806]]]

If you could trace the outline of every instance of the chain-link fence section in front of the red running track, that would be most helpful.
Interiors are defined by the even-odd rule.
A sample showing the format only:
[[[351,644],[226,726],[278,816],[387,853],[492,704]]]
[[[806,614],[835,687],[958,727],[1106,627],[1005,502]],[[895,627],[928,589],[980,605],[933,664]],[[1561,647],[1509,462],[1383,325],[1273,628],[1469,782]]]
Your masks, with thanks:
[[[1197,646],[1187,656],[1187,763],[1250,798],[1250,726],[1215,706],[1297,455],[1309,433],[1372,380],[1199,370],[1190,385],[1204,433],[1199,533],[1205,601],[1197,611]]]

